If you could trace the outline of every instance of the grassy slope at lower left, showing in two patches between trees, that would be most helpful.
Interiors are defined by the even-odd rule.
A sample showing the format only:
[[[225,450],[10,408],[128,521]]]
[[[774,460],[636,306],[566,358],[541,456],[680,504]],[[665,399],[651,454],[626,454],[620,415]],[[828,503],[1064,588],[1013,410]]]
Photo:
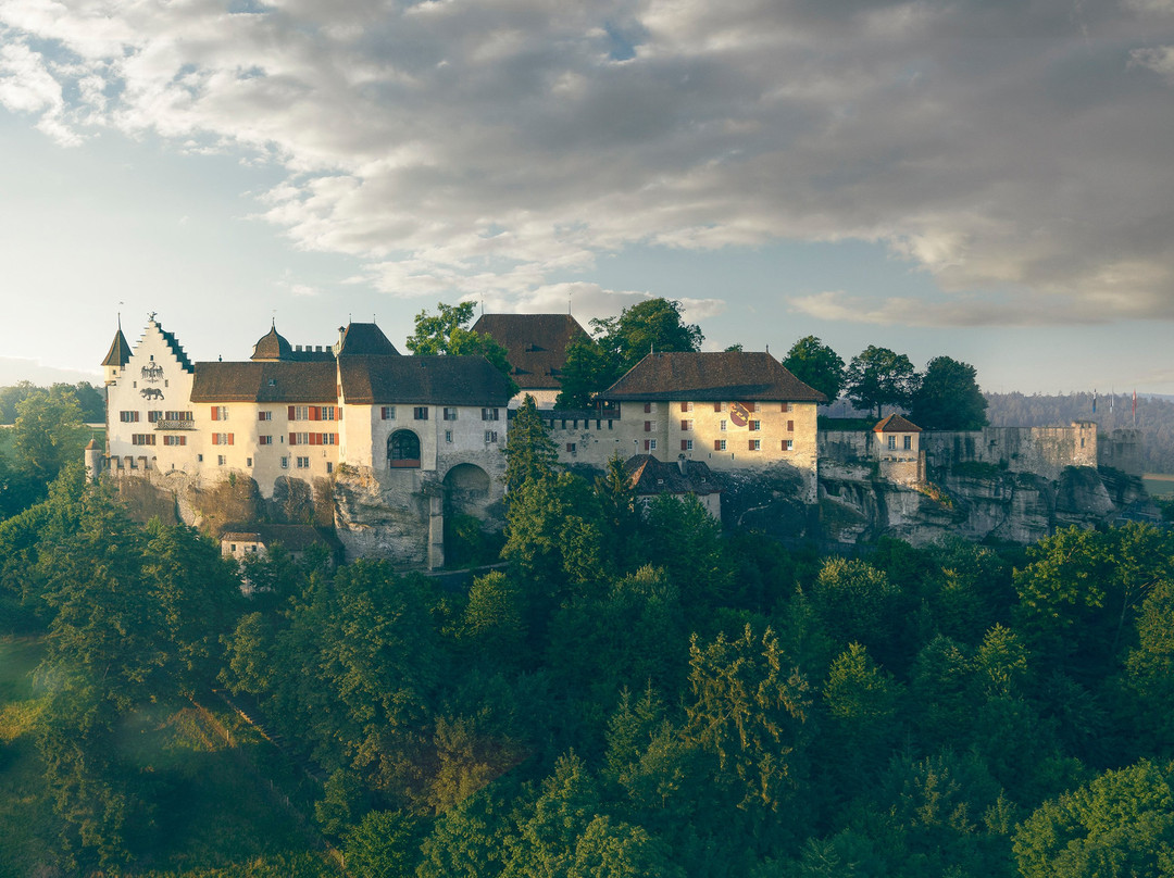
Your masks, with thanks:
[[[31,671],[42,654],[35,639],[0,639],[0,878],[58,874],[60,824],[34,742],[43,698]],[[149,851],[127,874],[337,874],[306,819],[318,791],[223,705],[135,712],[122,728],[121,749],[170,790],[143,832]]]

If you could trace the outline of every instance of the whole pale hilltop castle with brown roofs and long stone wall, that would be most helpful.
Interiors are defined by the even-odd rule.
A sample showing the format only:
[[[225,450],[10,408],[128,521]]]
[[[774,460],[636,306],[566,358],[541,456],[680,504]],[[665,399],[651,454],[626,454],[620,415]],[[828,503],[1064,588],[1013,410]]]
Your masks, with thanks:
[[[458,516],[500,528],[501,452],[526,393],[562,464],[598,470],[618,454],[646,494],[704,493],[715,514],[714,485],[738,481],[816,509],[843,495],[841,485],[821,482],[821,466],[830,479],[856,467],[871,473],[859,478],[917,489],[927,457],[1048,472],[1104,462],[1092,424],[923,437],[890,416],[868,433],[821,434],[823,394],[765,352],[650,352],[594,408],[555,410],[566,346],[586,337],[579,324],[488,315],[474,329],[506,347],[519,394],[483,357],[403,356],[375,323],[350,323],[335,344],[304,347],[274,325],[248,360],[193,363],[153,313],[134,346],[120,327],[102,363],[107,445],[87,448],[87,468],[92,478],[149,484],[188,521],[207,520],[214,504],[201,508],[201,497],[220,492],[216,502],[230,506],[228,492],[239,514],[221,524],[312,521],[333,528],[350,558],[437,568]],[[1116,453],[1113,466],[1132,470],[1121,455],[1135,437],[1125,439],[1102,447]]]

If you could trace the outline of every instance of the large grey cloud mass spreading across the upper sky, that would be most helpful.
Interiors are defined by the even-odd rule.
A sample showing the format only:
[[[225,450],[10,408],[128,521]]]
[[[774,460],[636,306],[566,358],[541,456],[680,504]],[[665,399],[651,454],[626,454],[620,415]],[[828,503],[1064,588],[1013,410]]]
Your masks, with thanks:
[[[257,215],[392,295],[520,305],[625,246],[855,238],[942,300],[795,308],[1174,316],[1167,0],[231,8],[0,0],[0,102],[60,142],[277,163]]]

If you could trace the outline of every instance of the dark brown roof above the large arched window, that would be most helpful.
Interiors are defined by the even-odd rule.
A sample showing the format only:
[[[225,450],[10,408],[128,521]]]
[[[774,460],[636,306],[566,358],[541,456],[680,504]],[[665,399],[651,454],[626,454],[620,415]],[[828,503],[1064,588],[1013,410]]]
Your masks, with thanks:
[[[510,385],[485,357],[339,357],[343,396],[356,405],[510,401]]]

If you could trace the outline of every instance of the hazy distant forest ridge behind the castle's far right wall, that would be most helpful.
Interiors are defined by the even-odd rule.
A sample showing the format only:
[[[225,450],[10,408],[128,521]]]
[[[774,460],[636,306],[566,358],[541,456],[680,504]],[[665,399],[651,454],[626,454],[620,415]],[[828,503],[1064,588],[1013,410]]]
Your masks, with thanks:
[[[1141,464],[1148,473],[1174,473],[1174,401],[1133,393],[1044,396],[986,393],[986,417],[992,427],[1051,427],[1074,420],[1094,420],[1101,433],[1136,426],[1141,431]]]

